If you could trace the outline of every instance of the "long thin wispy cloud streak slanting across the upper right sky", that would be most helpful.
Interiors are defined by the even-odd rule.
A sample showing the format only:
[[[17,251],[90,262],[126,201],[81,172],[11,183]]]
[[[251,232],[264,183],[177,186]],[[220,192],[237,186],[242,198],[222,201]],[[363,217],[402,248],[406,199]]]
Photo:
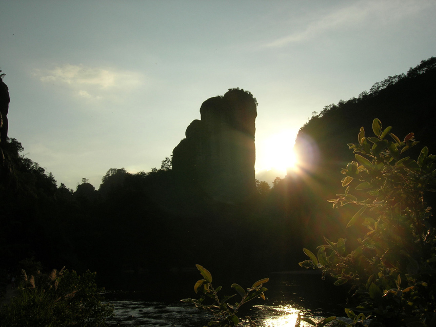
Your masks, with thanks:
[[[359,1],[322,16],[311,16],[307,24],[286,36],[265,44],[265,47],[280,48],[295,42],[303,42],[319,35],[349,27],[359,26],[373,17],[383,17],[379,21],[400,21],[404,16],[414,15],[425,10],[429,3],[416,1]]]

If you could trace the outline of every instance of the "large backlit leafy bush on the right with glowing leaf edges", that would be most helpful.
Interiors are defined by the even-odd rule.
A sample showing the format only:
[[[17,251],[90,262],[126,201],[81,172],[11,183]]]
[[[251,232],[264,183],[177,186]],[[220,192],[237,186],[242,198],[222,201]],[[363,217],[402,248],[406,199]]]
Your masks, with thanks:
[[[436,233],[424,200],[425,192],[435,190],[436,156],[427,147],[417,160],[405,156],[418,144],[414,134],[401,141],[379,119],[372,130],[375,137],[367,137],[362,127],[359,143],[348,145],[356,160],[342,170],[346,190],[329,200],[334,208],[359,208],[347,224],[361,234],[358,246],[347,251],[345,238],[325,238],[316,256],[303,249],[309,260],[300,265],[330,274],[335,285],[351,283],[354,311],[368,314],[347,309],[351,319],[372,317],[371,326],[436,326]]]

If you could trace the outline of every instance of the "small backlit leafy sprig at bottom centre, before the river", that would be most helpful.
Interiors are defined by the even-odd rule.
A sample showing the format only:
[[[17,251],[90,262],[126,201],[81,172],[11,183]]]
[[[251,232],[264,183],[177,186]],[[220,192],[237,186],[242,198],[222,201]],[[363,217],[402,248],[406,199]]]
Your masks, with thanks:
[[[209,312],[213,316],[213,319],[209,321],[208,326],[235,326],[240,322],[240,319],[236,316],[236,313],[239,312],[243,304],[257,297],[261,297],[265,300],[264,292],[266,292],[267,289],[262,286],[269,280],[268,278],[263,278],[256,281],[251,288],[247,290],[244,290],[238,284],[232,284],[231,287],[241,297],[241,300],[239,302],[235,302],[234,304],[230,304],[228,301],[236,296],[236,294],[226,295],[220,299],[218,292],[221,291],[222,287],[219,286],[215,289],[212,286],[212,275],[210,272],[203,268],[200,264],[196,264],[196,267],[204,277],[204,279],[200,279],[194,285],[194,292],[201,295],[200,299],[197,300],[188,298],[183,299],[182,301],[192,303],[196,306],[196,308]],[[211,301],[207,301],[207,298],[209,298]],[[209,304],[206,304],[206,302],[209,302]],[[255,326],[255,323],[250,317],[246,316],[246,318],[250,326]]]

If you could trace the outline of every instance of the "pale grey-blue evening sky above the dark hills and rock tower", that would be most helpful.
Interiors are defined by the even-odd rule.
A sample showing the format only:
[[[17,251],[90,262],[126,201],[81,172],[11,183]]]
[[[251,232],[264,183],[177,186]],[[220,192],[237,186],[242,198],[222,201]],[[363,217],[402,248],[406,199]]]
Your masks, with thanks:
[[[0,2],[9,137],[75,189],[160,168],[206,99],[256,97],[256,173],[313,112],[436,55],[434,1]]]

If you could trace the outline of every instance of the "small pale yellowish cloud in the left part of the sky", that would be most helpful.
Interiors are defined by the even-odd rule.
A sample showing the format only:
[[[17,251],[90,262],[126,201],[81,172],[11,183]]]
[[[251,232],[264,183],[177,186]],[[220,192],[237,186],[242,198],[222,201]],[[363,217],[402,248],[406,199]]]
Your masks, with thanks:
[[[76,96],[85,99],[101,99],[116,91],[131,90],[142,85],[144,81],[141,73],[82,64],[35,69],[33,75],[45,84],[63,85],[73,90]]]

